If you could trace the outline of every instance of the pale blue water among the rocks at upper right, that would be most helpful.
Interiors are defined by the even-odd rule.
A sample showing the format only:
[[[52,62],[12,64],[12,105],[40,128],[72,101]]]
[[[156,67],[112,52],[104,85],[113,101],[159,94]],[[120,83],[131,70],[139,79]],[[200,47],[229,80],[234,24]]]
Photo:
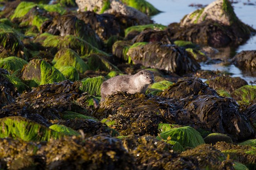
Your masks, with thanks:
[[[189,7],[191,3],[208,5],[213,0],[147,0],[162,11],[158,15],[153,16],[153,19],[158,24],[169,25],[173,22],[180,22],[180,20],[188,13],[196,10],[194,7]],[[252,26],[256,29],[256,0],[251,1],[255,5],[244,5],[248,3],[248,0],[237,0],[238,3],[233,3],[234,11],[237,17],[245,24]],[[251,38],[243,45],[240,45],[235,49],[235,52],[241,52],[242,50],[256,50],[256,35],[252,35]],[[221,57],[221,56],[219,56]],[[227,56],[223,56],[227,57]],[[229,56],[228,56],[229,57]],[[205,64],[200,63],[203,70],[220,70],[232,73],[232,77],[241,77],[248,83],[250,81],[256,81],[256,72],[242,71],[233,64],[224,66],[223,64]]]

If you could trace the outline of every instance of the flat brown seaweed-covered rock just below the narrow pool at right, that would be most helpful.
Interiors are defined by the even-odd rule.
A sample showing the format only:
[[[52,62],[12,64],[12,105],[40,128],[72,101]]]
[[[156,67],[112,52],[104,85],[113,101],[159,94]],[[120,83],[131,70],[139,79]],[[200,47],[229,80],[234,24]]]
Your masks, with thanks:
[[[248,85],[248,83],[240,77],[221,76],[215,79],[205,81],[210,88],[215,90],[225,90],[228,93],[232,93],[234,90]]]

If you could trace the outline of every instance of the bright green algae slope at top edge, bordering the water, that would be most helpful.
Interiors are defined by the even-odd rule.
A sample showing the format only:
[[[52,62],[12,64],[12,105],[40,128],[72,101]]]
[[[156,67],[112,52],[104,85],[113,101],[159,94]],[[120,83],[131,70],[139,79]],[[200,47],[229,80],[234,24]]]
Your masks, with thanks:
[[[156,9],[151,3],[145,0],[121,0],[125,5],[136,8],[137,10],[147,15],[156,15],[160,11]]]

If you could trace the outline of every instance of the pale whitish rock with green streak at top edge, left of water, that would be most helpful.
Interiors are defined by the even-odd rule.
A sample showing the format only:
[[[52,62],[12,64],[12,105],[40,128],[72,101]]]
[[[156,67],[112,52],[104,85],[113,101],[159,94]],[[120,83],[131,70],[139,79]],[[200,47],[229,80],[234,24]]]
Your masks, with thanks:
[[[80,11],[96,11],[97,13],[120,13],[127,17],[134,17],[139,24],[150,24],[152,21],[146,14],[135,8],[124,5],[119,0],[76,0]]]

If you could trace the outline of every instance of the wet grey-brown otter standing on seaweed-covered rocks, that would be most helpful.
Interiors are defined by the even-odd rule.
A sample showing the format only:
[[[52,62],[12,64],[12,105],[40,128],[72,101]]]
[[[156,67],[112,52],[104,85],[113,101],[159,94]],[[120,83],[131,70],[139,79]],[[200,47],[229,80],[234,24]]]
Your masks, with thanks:
[[[115,76],[104,81],[101,86],[101,100],[104,101],[106,96],[120,92],[129,94],[144,93],[149,84],[154,83],[154,73],[148,70],[141,70],[134,75]]]

